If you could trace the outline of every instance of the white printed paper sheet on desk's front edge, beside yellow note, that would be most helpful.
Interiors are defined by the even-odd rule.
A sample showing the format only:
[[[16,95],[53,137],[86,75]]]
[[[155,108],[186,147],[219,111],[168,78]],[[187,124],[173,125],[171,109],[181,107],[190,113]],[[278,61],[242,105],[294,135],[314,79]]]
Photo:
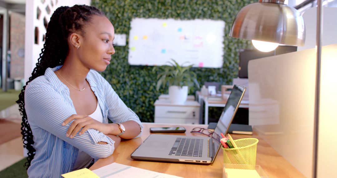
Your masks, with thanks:
[[[101,167],[93,170],[100,178],[113,178],[113,177],[156,177],[156,178],[178,178],[169,174],[158,173],[146,169],[136,168],[132,166],[121,165],[116,162],[108,166]]]

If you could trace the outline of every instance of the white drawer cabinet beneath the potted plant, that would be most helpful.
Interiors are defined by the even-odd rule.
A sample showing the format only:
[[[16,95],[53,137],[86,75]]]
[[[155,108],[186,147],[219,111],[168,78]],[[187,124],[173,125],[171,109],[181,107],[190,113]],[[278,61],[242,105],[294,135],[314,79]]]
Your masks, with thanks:
[[[157,99],[154,106],[154,123],[199,123],[200,104],[197,101],[186,100],[183,105],[177,105],[168,99]]]

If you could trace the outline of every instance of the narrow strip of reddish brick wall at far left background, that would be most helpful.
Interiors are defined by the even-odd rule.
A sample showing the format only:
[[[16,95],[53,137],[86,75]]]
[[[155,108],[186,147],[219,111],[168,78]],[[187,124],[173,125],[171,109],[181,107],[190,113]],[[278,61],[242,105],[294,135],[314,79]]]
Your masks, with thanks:
[[[10,78],[24,78],[25,65],[25,16],[10,14]]]

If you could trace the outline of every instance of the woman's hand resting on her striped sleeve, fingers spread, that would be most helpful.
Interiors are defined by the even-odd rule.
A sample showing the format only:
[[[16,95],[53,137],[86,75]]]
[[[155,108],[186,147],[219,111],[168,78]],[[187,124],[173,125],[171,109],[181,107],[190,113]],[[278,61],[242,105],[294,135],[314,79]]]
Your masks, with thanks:
[[[98,130],[105,135],[109,133],[109,125],[103,124],[101,122],[98,122],[97,120],[87,116],[87,115],[78,115],[73,114],[70,117],[68,117],[64,122],[62,123],[63,126],[67,125],[70,121],[74,120],[71,125],[69,126],[66,137],[74,138],[76,133],[80,131],[79,135],[82,135],[85,131],[87,131],[89,128],[93,128],[95,130]]]

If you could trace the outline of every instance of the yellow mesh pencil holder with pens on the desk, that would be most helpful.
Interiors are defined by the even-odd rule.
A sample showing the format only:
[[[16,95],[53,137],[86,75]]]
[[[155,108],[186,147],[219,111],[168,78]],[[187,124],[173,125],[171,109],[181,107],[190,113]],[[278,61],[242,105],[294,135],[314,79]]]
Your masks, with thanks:
[[[224,148],[221,146],[223,151],[223,163],[255,165],[258,140],[255,138],[246,138],[234,140],[234,142],[237,148]]]

